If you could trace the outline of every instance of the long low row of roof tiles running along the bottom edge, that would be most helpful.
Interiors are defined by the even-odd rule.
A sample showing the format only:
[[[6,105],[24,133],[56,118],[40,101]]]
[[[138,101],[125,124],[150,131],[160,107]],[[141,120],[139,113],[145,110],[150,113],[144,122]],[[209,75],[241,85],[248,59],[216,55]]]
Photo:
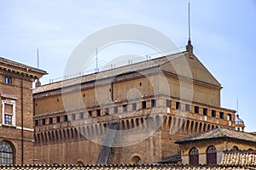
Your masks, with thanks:
[[[0,169],[9,169],[9,170],[15,170],[15,169],[37,169],[37,170],[44,170],[44,169],[52,169],[52,170],[74,170],[74,169],[83,169],[83,170],[118,170],[118,169],[136,169],[136,170],[143,170],[143,169],[176,169],[176,170],[210,170],[210,169],[219,169],[219,170],[225,170],[225,169],[233,169],[233,170],[240,170],[240,169],[253,169],[255,167],[222,167],[222,166],[207,166],[207,165],[198,165],[198,166],[187,166],[187,165],[161,165],[161,164],[151,164],[151,165],[0,165]]]

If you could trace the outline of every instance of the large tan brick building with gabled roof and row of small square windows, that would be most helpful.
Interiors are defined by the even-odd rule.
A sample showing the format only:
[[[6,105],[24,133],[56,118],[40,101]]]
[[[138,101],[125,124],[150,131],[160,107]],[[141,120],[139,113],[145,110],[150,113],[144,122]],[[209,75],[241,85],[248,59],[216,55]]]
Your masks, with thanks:
[[[177,139],[235,129],[192,49],[35,88],[35,162],[154,163],[180,154]]]

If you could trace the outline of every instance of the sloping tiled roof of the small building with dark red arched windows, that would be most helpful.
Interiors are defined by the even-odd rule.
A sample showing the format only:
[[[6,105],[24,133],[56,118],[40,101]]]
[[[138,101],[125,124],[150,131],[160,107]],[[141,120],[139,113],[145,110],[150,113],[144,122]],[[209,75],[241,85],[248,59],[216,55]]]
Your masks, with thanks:
[[[256,143],[256,136],[252,133],[235,131],[227,128],[214,128],[203,133],[198,133],[187,138],[177,140],[177,144],[195,140],[230,138]]]

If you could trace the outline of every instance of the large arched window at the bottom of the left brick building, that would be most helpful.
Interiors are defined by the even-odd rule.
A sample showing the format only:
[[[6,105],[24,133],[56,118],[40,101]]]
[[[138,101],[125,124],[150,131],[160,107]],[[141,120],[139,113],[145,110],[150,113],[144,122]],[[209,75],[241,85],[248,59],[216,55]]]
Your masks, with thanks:
[[[7,141],[0,142],[0,164],[14,164],[14,151]]]

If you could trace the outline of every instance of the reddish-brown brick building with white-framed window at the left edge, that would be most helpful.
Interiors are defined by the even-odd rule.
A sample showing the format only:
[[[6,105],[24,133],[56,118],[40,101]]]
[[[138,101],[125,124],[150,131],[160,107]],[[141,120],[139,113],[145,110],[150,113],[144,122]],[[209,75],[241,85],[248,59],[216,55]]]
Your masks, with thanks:
[[[0,164],[32,163],[32,82],[44,74],[0,58]]]

